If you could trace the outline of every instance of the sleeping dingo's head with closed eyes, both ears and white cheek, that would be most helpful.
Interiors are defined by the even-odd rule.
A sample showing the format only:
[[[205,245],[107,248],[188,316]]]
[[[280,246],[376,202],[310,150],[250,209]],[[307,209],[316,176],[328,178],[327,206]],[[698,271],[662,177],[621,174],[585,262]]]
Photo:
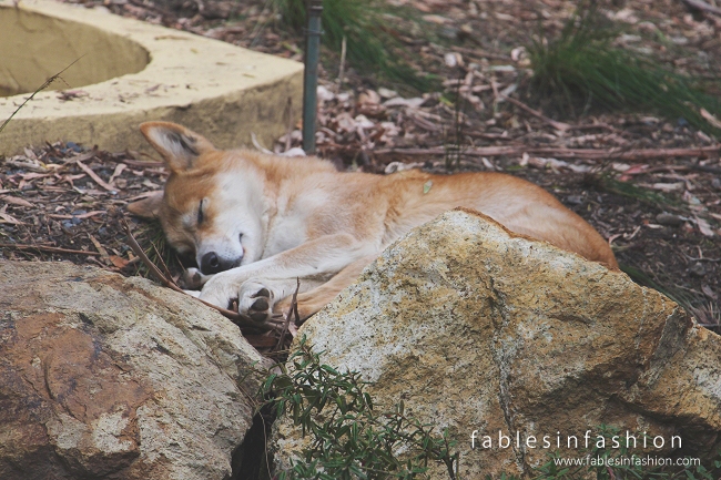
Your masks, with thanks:
[[[148,122],[140,130],[163,156],[170,177],[163,193],[128,210],[160,218],[170,244],[193,253],[204,274],[258,259],[263,181],[251,162],[174,123]]]

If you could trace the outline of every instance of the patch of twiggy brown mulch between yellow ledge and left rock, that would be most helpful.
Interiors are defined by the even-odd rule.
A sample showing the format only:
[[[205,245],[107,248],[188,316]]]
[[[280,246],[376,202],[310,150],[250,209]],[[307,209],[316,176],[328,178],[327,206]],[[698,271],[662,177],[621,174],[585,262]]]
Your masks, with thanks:
[[[73,142],[26,149],[0,170],[0,248],[10,259],[70,259],[130,273],[138,263],[119,219],[162,188],[161,162]],[[135,225],[134,222],[131,222]]]

